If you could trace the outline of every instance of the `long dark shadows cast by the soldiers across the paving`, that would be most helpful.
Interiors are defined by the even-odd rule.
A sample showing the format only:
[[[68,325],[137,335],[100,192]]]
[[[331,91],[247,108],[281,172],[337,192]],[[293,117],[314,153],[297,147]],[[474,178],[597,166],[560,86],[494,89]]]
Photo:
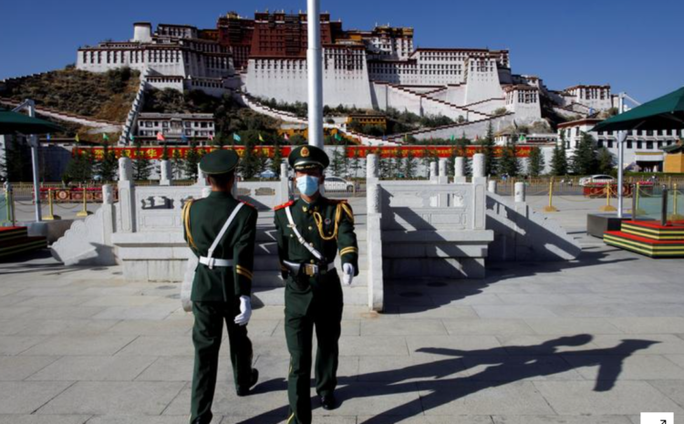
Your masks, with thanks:
[[[359,375],[358,381],[380,383],[379,387],[370,390],[368,385],[341,379],[342,383],[349,384],[337,389],[337,399],[341,406],[352,398],[415,393],[420,389],[420,398],[386,411],[378,411],[373,418],[364,421],[365,424],[390,424],[420,415],[432,408],[439,408],[486,388],[500,387],[532,377],[562,374],[579,367],[599,367],[594,390],[608,391],[615,386],[627,357],[659,343],[626,339],[614,347],[559,352],[560,347],[584,346],[592,339],[593,336],[586,334],[563,336],[537,346],[500,346],[478,350],[422,347],[416,352],[448,358]],[[445,378],[476,367],[486,368],[468,377]],[[283,420],[286,410],[286,407],[277,408],[241,422],[275,424]]]

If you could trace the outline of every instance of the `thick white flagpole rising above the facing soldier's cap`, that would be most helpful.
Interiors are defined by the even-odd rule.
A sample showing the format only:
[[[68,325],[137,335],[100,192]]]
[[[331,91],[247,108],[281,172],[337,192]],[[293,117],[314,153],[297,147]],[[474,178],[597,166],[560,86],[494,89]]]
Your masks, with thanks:
[[[323,57],[320,0],[307,0],[309,145],[323,149]]]

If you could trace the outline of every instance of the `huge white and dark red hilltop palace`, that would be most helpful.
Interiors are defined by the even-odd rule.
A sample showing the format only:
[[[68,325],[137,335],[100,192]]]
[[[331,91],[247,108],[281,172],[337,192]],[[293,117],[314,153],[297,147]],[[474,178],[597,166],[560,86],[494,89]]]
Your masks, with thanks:
[[[325,104],[408,110],[459,122],[459,128],[430,130],[430,137],[482,134],[489,122],[497,130],[533,123],[542,119],[543,98],[562,116],[586,117],[614,105],[609,86],[554,91],[540,78],[514,74],[508,50],[415,48],[412,28],[343,29],[329,14],[320,16],[320,25]],[[160,24],[154,30],[145,22],[134,24],[130,41],[79,48],[77,67],[139,69],[146,87],[306,102],[306,42],[302,13],[229,13],[211,29]]]

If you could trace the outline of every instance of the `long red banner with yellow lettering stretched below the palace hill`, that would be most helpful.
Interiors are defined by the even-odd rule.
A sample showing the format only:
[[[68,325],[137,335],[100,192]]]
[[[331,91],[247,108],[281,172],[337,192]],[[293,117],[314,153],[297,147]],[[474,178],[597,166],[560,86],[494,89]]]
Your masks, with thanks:
[[[280,148],[281,154],[283,155],[284,158],[287,157],[287,155],[290,154],[290,150],[293,149],[295,146],[282,146]],[[188,155],[188,151],[190,151],[192,148],[190,147],[168,147],[167,150],[167,155],[170,160],[173,159],[174,156],[179,156],[181,158],[185,158]],[[209,153],[213,150],[219,149],[216,146],[205,146],[205,147],[197,147],[195,150],[202,156],[206,153]],[[233,146],[225,146],[223,149],[226,150],[232,150]],[[72,151],[72,154],[74,155],[82,155],[85,154],[88,150],[92,151],[93,156],[95,157],[95,160],[101,160],[102,157],[104,156],[104,149],[101,147],[95,147],[95,148],[77,148]],[[163,153],[164,153],[164,148],[160,146],[145,146],[141,147],[140,149],[137,148],[129,148],[129,147],[115,147],[115,148],[110,148],[109,150],[113,150],[114,154],[116,155],[117,159],[119,159],[122,156],[129,157],[130,159],[137,159],[140,156],[144,155],[147,159],[149,160],[160,160]],[[240,157],[244,156],[244,147],[243,146],[235,146],[234,150],[237,152]],[[453,151],[457,150],[457,152],[460,150],[459,147],[457,146],[397,146],[397,147],[372,147],[372,146],[349,146],[347,147],[347,158],[365,158],[369,154],[380,154],[382,158],[405,158],[410,154],[414,158],[423,158],[426,155],[433,155],[437,156],[439,158],[450,158],[453,155]],[[479,151],[482,150],[482,146],[468,146],[466,148],[466,156],[471,158],[473,154],[478,153]],[[494,156],[501,156],[502,154],[503,147],[497,146],[494,148]],[[532,146],[516,146],[515,147],[515,156],[518,158],[527,158],[530,156],[530,150],[532,150]],[[254,154],[258,155],[264,155],[268,158],[273,158],[275,152],[274,146],[256,146],[254,148]]]

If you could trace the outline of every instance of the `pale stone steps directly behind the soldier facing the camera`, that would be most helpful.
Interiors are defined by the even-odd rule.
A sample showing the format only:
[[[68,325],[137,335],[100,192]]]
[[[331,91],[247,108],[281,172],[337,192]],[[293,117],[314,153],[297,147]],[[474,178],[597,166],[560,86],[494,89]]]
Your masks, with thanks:
[[[368,253],[366,238],[366,215],[356,218],[359,260],[358,276],[351,286],[342,285],[346,305],[368,305]],[[280,275],[278,248],[275,242],[274,212],[260,212],[257,222],[254,257],[254,302],[263,305],[285,304],[285,282]],[[339,257],[335,260],[341,278]]]

